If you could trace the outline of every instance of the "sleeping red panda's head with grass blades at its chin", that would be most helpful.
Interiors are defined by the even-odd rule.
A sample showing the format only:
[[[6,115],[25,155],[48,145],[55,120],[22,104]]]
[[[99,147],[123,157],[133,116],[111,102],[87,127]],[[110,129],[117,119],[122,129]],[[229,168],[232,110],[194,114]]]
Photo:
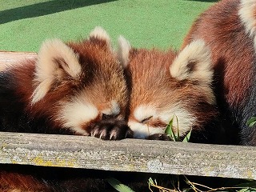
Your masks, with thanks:
[[[218,122],[218,110],[205,43],[198,40],[181,51],[164,52],[131,48],[122,37],[118,42],[119,60],[131,87],[128,125],[134,138],[169,140],[165,129],[173,118],[176,135],[184,138],[192,130],[191,142],[212,142],[204,130]]]

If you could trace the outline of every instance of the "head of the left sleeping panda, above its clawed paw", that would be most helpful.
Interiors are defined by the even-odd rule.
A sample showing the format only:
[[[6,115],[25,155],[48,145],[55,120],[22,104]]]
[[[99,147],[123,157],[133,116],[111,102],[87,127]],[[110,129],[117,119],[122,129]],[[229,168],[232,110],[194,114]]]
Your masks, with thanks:
[[[82,42],[44,42],[34,71],[31,113],[53,126],[88,135],[94,122],[125,118],[126,80],[102,28]]]

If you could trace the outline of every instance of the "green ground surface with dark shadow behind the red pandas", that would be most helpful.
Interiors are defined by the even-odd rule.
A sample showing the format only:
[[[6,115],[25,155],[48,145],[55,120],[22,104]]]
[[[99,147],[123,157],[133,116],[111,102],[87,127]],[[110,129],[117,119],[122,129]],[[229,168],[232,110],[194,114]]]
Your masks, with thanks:
[[[0,0],[0,50],[38,51],[46,38],[88,37],[102,26],[115,44],[178,48],[214,0]]]

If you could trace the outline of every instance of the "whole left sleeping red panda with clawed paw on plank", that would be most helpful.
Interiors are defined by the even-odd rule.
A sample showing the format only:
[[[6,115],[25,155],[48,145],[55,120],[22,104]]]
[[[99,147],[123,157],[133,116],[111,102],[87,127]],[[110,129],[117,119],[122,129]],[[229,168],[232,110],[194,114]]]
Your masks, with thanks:
[[[0,73],[0,131],[132,137],[126,79],[106,31],[43,42],[38,58]]]

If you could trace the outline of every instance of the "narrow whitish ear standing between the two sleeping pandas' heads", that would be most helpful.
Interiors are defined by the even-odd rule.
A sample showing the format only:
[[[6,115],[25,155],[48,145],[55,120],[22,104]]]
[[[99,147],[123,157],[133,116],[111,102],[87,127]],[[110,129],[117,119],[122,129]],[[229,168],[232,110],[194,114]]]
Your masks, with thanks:
[[[130,49],[130,42],[128,42],[126,38],[120,36],[118,38],[118,60],[121,62],[124,68],[126,68],[129,62]]]

